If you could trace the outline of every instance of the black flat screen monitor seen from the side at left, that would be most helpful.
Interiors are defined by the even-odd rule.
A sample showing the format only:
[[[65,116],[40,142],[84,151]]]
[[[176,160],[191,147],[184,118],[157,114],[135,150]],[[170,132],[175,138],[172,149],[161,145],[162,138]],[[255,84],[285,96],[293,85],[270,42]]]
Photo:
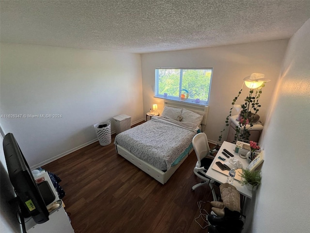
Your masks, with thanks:
[[[12,133],[4,136],[3,150],[9,178],[15,189],[16,198],[19,199],[20,208],[25,212],[24,216],[31,216],[39,224],[46,222],[49,220],[46,204]]]

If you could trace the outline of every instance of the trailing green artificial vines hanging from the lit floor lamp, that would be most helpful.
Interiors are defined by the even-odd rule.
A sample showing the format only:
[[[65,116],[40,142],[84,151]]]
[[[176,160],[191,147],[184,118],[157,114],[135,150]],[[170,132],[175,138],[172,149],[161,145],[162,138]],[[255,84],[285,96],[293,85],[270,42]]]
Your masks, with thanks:
[[[261,97],[262,94],[262,88],[265,86],[265,84],[263,83],[262,86],[260,86],[259,88],[256,89],[255,94],[253,89],[249,90],[248,96],[245,99],[245,103],[241,105],[241,112],[238,116],[238,120],[239,120],[239,124],[236,125],[236,133],[234,135],[234,142],[236,142],[238,139],[245,139],[248,140],[249,136],[250,136],[250,132],[248,131],[248,128],[246,128],[246,125],[250,125],[250,127],[253,126],[253,115],[257,114],[257,112],[259,111],[259,108],[261,107],[261,105],[259,104],[259,99]],[[234,106],[235,102],[238,100],[240,94],[242,92],[242,87],[241,90],[239,91],[238,95],[233,99],[232,105]],[[233,106],[229,111],[229,115],[226,117],[226,125],[224,127],[224,129],[220,132],[220,136],[218,137],[218,142],[220,142],[222,140],[222,135],[223,132],[225,131],[226,127],[229,126],[228,122],[229,122],[229,117],[232,116],[232,110],[233,110]]]

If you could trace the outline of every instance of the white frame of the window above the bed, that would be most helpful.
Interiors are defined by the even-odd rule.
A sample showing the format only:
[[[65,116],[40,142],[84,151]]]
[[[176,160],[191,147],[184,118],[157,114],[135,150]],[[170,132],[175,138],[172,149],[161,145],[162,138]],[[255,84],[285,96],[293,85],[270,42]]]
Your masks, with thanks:
[[[179,92],[182,90],[182,78],[183,78],[183,70],[184,69],[209,69],[211,70],[211,76],[210,76],[210,85],[209,85],[209,90],[208,90],[208,100],[200,100],[200,102],[197,102],[196,99],[190,99],[188,98],[187,100],[180,100],[179,97],[174,97],[174,96],[168,96],[164,97],[162,94],[158,94],[159,92],[159,83],[158,83],[158,69],[180,69],[180,79],[179,79]],[[164,100],[174,100],[174,101],[179,101],[179,102],[186,102],[190,104],[197,104],[197,105],[208,105],[210,101],[210,91],[211,91],[211,83],[212,83],[212,76],[213,76],[213,68],[210,67],[199,67],[199,68],[185,68],[185,67],[156,67],[155,68],[155,96],[154,98],[159,98],[159,99],[164,99]]]

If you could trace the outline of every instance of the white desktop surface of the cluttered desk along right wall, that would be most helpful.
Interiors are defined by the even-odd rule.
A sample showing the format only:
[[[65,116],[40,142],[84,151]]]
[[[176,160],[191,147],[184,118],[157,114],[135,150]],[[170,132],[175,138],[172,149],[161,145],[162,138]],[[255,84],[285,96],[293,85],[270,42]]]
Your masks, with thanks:
[[[221,172],[218,172],[214,169],[212,169],[213,166],[217,166],[215,163],[217,161],[220,161],[221,163],[223,163],[223,161],[221,161],[220,159],[218,159],[218,156],[221,156],[223,158],[226,158],[225,156],[223,156],[222,154],[222,151],[223,149],[226,149],[228,150],[229,152],[231,152],[234,157],[233,158],[236,158],[238,159],[242,165],[243,165],[243,168],[246,168],[248,167],[248,160],[247,159],[242,159],[240,158],[239,154],[238,153],[235,153],[234,152],[234,148],[235,148],[235,144],[233,143],[230,143],[230,142],[226,142],[224,141],[222,146],[220,147],[220,149],[218,150],[217,152],[217,155],[216,157],[214,158],[212,164],[210,165],[209,169],[207,170],[206,172],[206,176],[208,178],[210,178],[211,180],[214,180],[218,183],[226,183],[226,180],[227,180],[227,175],[224,175],[222,174]],[[228,158],[226,158],[226,161],[228,161]],[[225,162],[226,162],[225,161]],[[247,198],[252,198],[252,191],[251,190],[248,190],[248,188],[246,186],[241,186],[241,184],[237,181],[237,180],[234,180],[233,181],[233,186],[235,186],[238,190],[238,192],[242,195],[244,195],[245,197]]]

